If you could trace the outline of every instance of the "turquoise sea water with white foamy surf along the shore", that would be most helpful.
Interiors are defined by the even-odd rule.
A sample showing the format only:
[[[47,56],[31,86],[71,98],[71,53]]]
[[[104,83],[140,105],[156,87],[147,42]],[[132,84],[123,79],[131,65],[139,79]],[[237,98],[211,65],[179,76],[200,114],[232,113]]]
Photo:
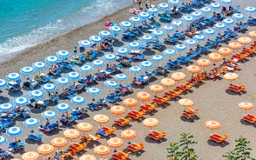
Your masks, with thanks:
[[[129,4],[129,0],[1,0],[0,56],[45,42]]]

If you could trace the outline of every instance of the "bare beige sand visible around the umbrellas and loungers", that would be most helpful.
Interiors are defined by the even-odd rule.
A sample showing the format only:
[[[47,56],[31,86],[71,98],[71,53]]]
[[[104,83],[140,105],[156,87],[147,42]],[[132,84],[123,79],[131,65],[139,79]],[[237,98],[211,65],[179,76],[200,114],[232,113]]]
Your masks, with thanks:
[[[157,3],[165,2],[166,0],[158,0],[158,1],[151,1],[153,4],[157,5]],[[255,2],[254,2],[255,3]],[[234,4],[239,4],[241,8],[239,11],[242,13],[245,13],[243,8],[247,6],[254,6],[253,0],[247,0],[247,1],[240,1],[240,0],[234,0]],[[138,5],[134,4],[137,8]],[[30,48],[29,50],[24,51],[24,53],[17,55],[17,57],[11,59],[8,62],[1,63],[0,64],[0,78],[4,79],[5,76],[10,72],[19,72],[20,68],[31,65],[32,63],[36,61],[44,61],[44,57],[55,55],[57,50],[72,50],[74,49],[74,46],[78,46],[78,41],[83,39],[88,39],[91,35],[98,35],[99,30],[106,30],[104,29],[103,23],[104,20],[107,18],[113,18],[117,23],[128,20],[129,17],[132,16],[132,14],[129,14],[126,12],[126,10],[131,9],[132,5],[123,9],[118,10],[116,13],[106,16],[103,19],[99,20],[95,23],[90,23],[88,25],[85,25],[83,27],[80,27],[76,30],[71,30],[69,33],[66,33],[64,35],[61,35],[59,37],[56,37],[52,39],[49,42],[38,44],[37,46]],[[145,10],[145,3],[143,3],[143,10]],[[196,9],[198,10],[198,9]],[[174,19],[178,19],[181,16],[185,15],[185,13],[182,13],[175,17]],[[245,14],[246,15],[246,14]],[[156,17],[156,21],[159,22],[158,17]],[[167,24],[167,23],[161,23],[161,24]],[[184,30],[185,27],[182,28]],[[247,32],[249,30],[256,30],[255,25],[254,26],[248,26]],[[239,37],[248,37],[247,32],[239,32]],[[150,33],[143,33],[143,34],[150,34]],[[143,34],[140,34],[139,37],[134,38],[133,40],[136,41],[140,39],[140,37],[143,36]],[[188,39],[188,37],[185,37]],[[121,35],[118,35],[117,37],[118,41],[114,43],[114,48],[118,47],[126,47],[126,43],[121,40]],[[163,40],[162,38],[160,41]],[[229,42],[237,41],[237,38],[232,38]],[[229,43],[227,42],[227,43]],[[221,43],[222,46],[227,46],[227,43]],[[173,45],[165,44],[166,49],[173,48]],[[246,45],[246,47],[249,47],[249,45]],[[239,52],[240,50],[236,50]],[[217,52],[217,50],[212,49],[209,50],[209,53],[211,52]],[[101,55],[109,53],[109,51],[104,51]],[[114,52],[115,53],[115,52]],[[183,53],[185,55],[185,53]],[[146,59],[150,60],[152,55],[163,55],[161,51],[158,50],[148,50],[145,52]],[[175,59],[179,57],[179,55],[172,57],[172,59]],[[98,57],[99,59],[102,59],[101,57]],[[199,58],[208,58],[206,55],[202,55]],[[196,64],[196,61],[199,59],[193,59],[191,63],[189,64]],[[163,62],[163,65],[167,63],[169,58],[165,58],[165,61]],[[200,83],[196,87],[192,87],[192,90],[182,94],[180,97],[182,98],[189,98],[192,99],[194,102],[194,106],[192,109],[199,109],[199,112],[197,113],[198,118],[196,118],[194,121],[188,121],[184,117],[181,117],[182,111],[184,110],[184,107],[181,106],[177,100],[171,100],[168,102],[165,106],[160,106],[156,108],[155,111],[153,111],[150,114],[145,114],[144,118],[147,117],[155,117],[158,119],[159,124],[154,129],[159,131],[166,131],[166,137],[164,141],[158,143],[154,140],[146,137],[146,135],[149,132],[149,128],[145,127],[142,123],[142,120],[132,120],[131,126],[127,127],[132,130],[138,131],[138,136],[131,140],[131,142],[135,143],[145,143],[145,149],[144,152],[141,154],[131,154],[130,159],[146,159],[146,160],[163,160],[166,159],[167,151],[166,148],[169,147],[170,142],[176,142],[179,140],[179,134],[182,132],[189,132],[192,133],[194,136],[194,140],[196,140],[198,143],[194,145],[195,152],[199,156],[198,159],[200,160],[219,160],[219,159],[225,159],[222,157],[223,154],[226,153],[226,150],[233,150],[235,146],[235,139],[241,137],[246,137],[250,143],[250,147],[253,149],[251,151],[251,157],[256,157],[256,141],[255,141],[255,127],[256,125],[246,123],[241,118],[243,117],[244,110],[240,110],[238,107],[238,103],[241,102],[250,102],[256,105],[256,76],[255,76],[255,69],[256,69],[256,63],[255,63],[255,57],[248,57],[246,58],[246,62],[239,63],[239,70],[237,71],[239,78],[238,80],[234,81],[233,83],[237,84],[246,84],[246,92],[242,94],[235,94],[231,91],[226,90],[229,86],[229,81],[225,80],[223,78],[223,75],[220,76],[219,79],[216,81],[213,80],[204,80],[202,83]],[[91,62],[86,62],[86,64],[90,64]],[[218,63],[219,64],[219,63]],[[138,65],[138,62],[132,62],[132,65]],[[186,78],[189,79],[191,77],[191,73],[189,73],[187,70],[185,70],[186,65],[181,65],[179,69],[176,70],[169,70],[169,73],[166,77],[171,77],[171,74],[175,71],[182,71],[185,73]],[[213,66],[207,67],[205,70],[209,71],[213,68]],[[153,68],[154,69],[154,68]],[[153,69],[147,70],[152,71]],[[78,66],[74,67],[74,70],[78,70]],[[47,70],[45,70],[46,72]],[[92,72],[96,72],[97,70],[93,70]],[[121,69],[121,71],[129,75],[128,80],[124,84],[130,84],[133,75],[129,72],[129,70]],[[145,70],[143,71],[143,73]],[[36,73],[35,73],[36,74]],[[83,77],[85,74],[82,74]],[[62,77],[65,75],[62,74]],[[154,83],[160,83],[160,80],[163,78],[163,76],[157,76],[157,79],[150,84]],[[109,79],[115,80],[113,77],[110,77]],[[24,77],[23,77],[24,80]],[[101,88],[102,94],[98,97],[105,97],[107,95],[108,89],[104,86],[104,81],[98,82],[96,87]],[[181,83],[184,81],[181,81]],[[144,88],[136,87],[133,94],[127,95],[125,97],[121,97],[122,99],[125,99],[126,97],[135,97],[136,93],[140,90],[145,90],[151,93],[149,90],[150,84],[146,85]],[[170,88],[172,89],[172,88]],[[3,90],[3,97],[7,97],[4,99],[4,103],[11,103],[13,97],[19,97],[19,96],[25,96],[29,97],[29,91],[30,90],[22,90],[22,92],[18,92],[17,94],[13,94],[8,92],[7,90]],[[152,94],[153,96],[154,94]],[[164,96],[164,93],[159,94],[161,96]],[[89,96],[86,92],[81,93],[79,96],[86,98],[86,103],[90,103],[92,97]],[[44,99],[47,99],[48,96],[45,96]],[[72,109],[75,109],[76,106],[70,102],[70,100],[61,100],[60,102],[70,103],[72,105]],[[150,101],[152,102],[152,101]],[[118,102],[117,104],[123,105],[122,101]],[[108,103],[108,106],[111,107],[114,104]],[[139,110],[139,106],[136,106],[132,108],[133,110]],[[55,104],[51,104],[48,106],[47,110],[55,110]],[[37,117],[41,118],[41,123],[44,123],[44,118],[41,117],[41,112],[43,110],[39,109],[31,109],[32,115],[31,117]],[[252,113],[253,115],[256,115],[256,110],[248,110],[249,113]],[[98,123],[93,121],[92,117],[98,113],[107,115],[110,117],[110,121],[108,123],[104,123],[105,126],[111,127],[114,124],[115,115],[111,114],[110,110],[103,109],[98,111],[89,111],[88,115],[89,117],[85,117],[84,119],[78,120],[77,123],[80,122],[87,122],[91,123],[94,126],[94,129],[90,132],[91,134],[95,134],[98,130]],[[128,113],[128,108],[122,117],[125,117]],[[61,113],[58,113],[58,117],[60,117]],[[223,134],[229,134],[229,137],[226,140],[226,143],[214,143],[211,140],[209,140],[209,134],[211,133],[211,130],[207,129],[205,127],[205,122],[209,120],[216,120],[219,123],[221,123],[221,129],[216,130],[217,133],[223,135]],[[23,142],[26,142],[25,145],[25,151],[36,151],[36,148],[41,143],[33,143],[30,140],[27,140],[27,136],[30,133],[30,129],[26,129],[23,125],[24,118],[17,117],[15,118],[15,126],[22,126],[24,128],[24,133],[21,136],[21,140]],[[63,131],[68,128],[76,128],[76,125],[63,127],[59,132],[53,132],[51,134],[46,134],[43,137],[43,143],[50,143],[51,139],[53,137],[63,137]],[[120,137],[120,133],[125,128],[117,127],[117,130],[114,132],[111,137]],[[40,133],[39,130],[36,130],[36,134]],[[82,134],[82,132],[81,132]],[[6,136],[6,134],[1,133],[1,135]],[[100,138],[99,143],[107,145],[106,141],[110,137],[103,137]],[[11,141],[12,137],[8,137],[8,139]],[[78,139],[75,140],[78,142]],[[126,143],[128,140],[124,140],[125,143],[122,147],[118,148],[118,150],[125,150]],[[6,144],[4,145],[6,146]],[[96,146],[96,144],[94,144]],[[65,148],[64,148],[65,149]],[[63,150],[64,150],[63,149]],[[92,154],[93,153],[93,146],[88,146],[84,150],[82,154]],[[16,153],[13,155],[13,157],[21,158],[21,155],[23,153]],[[81,154],[81,155],[82,155]],[[111,153],[106,156],[106,159],[111,159]],[[81,155],[78,155],[81,156]],[[75,157],[74,159],[78,160],[78,157]],[[96,155],[96,157],[99,158],[99,156]],[[43,157],[40,157],[40,159],[43,159]]]

